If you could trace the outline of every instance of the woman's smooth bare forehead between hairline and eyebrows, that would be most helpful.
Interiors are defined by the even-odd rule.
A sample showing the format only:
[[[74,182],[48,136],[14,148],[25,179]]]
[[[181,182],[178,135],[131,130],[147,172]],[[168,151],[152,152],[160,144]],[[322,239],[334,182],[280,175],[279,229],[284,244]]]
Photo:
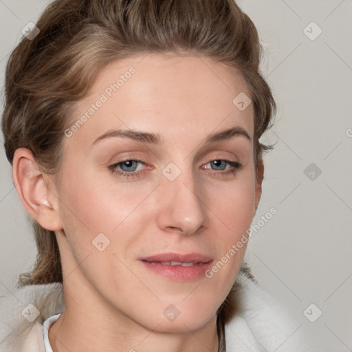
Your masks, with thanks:
[[[250,102],[243,78],[227,65],[198,56],[144,54],[104,67],[89,95],[76,103],[71,122],[96,137],[121,127],[192,135],[239,126],[252,135]]]

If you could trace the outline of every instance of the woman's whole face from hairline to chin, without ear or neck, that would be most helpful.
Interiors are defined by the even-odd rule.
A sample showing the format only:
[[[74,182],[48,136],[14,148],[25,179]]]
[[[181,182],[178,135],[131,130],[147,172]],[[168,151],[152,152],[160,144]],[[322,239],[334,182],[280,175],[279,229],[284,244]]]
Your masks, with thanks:
[[[74,107],[50,199],[72,296],[158,331],[214,318],[260,196],[252,104],[232,102],[241,92],[239,74],[197,56],[102,69]]]

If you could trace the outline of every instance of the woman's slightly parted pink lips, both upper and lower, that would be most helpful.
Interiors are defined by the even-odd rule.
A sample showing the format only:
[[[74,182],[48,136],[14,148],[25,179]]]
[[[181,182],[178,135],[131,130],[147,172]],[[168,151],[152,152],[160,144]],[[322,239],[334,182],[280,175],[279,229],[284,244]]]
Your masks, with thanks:
[[[205,256],[200,253],[164,253],[148,256],[140,259],[140,261],[148,270],[164,276],[169,280],[194,281],[204,276],[206,270],[211,267],[213,260],[210,256]],[[171,261],[177,263],[193,263],[193,265],[181,266],[165,264]]]

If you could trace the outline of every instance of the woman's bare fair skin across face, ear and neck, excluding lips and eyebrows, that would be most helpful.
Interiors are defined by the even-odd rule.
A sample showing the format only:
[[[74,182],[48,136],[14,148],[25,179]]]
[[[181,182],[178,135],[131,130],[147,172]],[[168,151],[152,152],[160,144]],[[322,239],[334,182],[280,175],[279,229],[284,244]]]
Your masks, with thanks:
[[[63,137],[57,178],[17,149],[14,182],[30,215],[56,233],[63,263],[65,311],[50,329],[56,351],[217,351],[216,312],[239,272],[246,244],[212,278],[173,281],[146,269],[143,256],[198,252],[221,259],[250,227],[261,197],[263,166],[254,168],[252,104],[241,75],[198,56],[148,54],[109,63],[90,93],[76,103],[72,123],[129,67],[131,78],[70,137]],[[240,126],[236,135],[204,143],[210,133]],[[94,141],[107,131],[158,133],[163,144],[122,137]],[[129,178],[120,172],[139,173]],[[241,167],[230,173],[239,162]],[[162,171],[180,171],[170,181]],[[175,170],[173,168],[172,170]],[[175,171],[172,171],[175,172]],[[100,233],[110,244],[97,250]],[[105,240],[104,240],[105,241]],[[179,316],[169,321],[164,309]]]

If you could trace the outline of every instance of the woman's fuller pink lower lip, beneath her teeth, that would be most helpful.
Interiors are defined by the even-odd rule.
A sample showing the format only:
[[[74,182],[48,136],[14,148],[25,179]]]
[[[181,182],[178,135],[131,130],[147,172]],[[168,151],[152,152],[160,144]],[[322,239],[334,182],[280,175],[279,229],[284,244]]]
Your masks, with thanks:
[[[142,261],[142,263],[149,270],[175,281],[197,280],[197,278],[205,276],[206,270],[208,270],[212,265],[212,261],[192,265],[190,267],[183,267],[181,265],[164,265],[162,263],[149,263],[148,261]]]

